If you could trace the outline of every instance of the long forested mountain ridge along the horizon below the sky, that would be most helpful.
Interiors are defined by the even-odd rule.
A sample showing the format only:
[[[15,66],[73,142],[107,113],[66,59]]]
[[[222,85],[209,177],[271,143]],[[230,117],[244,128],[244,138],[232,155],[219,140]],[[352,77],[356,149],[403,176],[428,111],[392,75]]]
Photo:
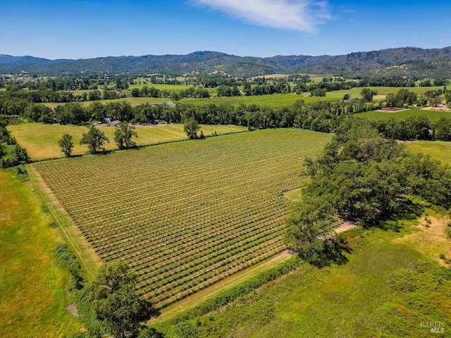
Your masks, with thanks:
[[[339,56],[299,55],[270,58],[235,56],[217,51],[196,51],[187,55],[108,56],[78,60],[49,60],[33,56],[0,54],[0,73],[25,72],[37,75],[224,73],[243,77],[274,73],[350,75],[406,65],[414,61],[431,63],[432,68],[438,67],[442,71],[441,68],[451,64],[451,46],[442,49],[403,47]],[[440,65],[438,63],[435,65],[436,61],[440,61]],[[404,68],[404,72],[405,69],[409,68]]]

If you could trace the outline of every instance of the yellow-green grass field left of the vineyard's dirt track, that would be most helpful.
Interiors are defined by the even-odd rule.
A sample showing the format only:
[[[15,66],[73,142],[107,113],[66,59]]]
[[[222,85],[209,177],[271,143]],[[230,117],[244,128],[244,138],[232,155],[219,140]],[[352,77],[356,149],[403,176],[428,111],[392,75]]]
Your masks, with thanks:
[[[70,276],[56,268],[61,239],[29,184],[0,170],[0,335],[63,337],[82,327],[66,312]]]

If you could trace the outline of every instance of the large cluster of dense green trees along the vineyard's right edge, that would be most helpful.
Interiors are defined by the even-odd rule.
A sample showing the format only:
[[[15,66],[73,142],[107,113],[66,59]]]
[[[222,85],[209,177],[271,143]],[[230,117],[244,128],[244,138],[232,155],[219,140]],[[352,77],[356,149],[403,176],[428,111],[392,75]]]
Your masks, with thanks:
[[[402,146],[383,139],[363,120],[347,118],[335,131],[323,157],[307,161],[312,180],[303,190],[299,211],[289,218],[288,242],[307,261],[315,261],[323,249],[319,229],[328,229],[335,215],[364,226],[381,225],[402,212],[411,213],[403,198],[409,193],[451,206],[449,168],[423,154],[405,154]],[[382,227],[397,231],[390,223]]]

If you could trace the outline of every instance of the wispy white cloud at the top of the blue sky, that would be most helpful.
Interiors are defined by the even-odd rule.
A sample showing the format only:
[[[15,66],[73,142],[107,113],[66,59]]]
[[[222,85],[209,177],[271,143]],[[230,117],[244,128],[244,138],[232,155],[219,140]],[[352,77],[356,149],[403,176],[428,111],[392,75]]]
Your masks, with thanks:
[[[192,0],[247,23],[264,27],[316,32],[330,19],[328,1],[311,0]]]

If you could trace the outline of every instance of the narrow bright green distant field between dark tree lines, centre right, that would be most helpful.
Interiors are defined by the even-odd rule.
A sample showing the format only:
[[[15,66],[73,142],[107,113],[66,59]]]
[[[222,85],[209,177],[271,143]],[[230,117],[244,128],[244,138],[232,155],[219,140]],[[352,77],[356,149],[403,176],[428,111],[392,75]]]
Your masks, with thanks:
[[[309,95],[309,93],[306,93],[306,95]],[[180,102],[195,104],[199,106],[206,106],[207,104],[233,104],[233,106],[238,106],[239,104],[257,104],[257,106],[282,108],[285,106],[291,106],[299,99],[304,100],[306,103],[337,100],[335,96],[330,96],[330,93],[328,93],[328,96],[326,97],[304,96],[297,94],[272,94],[256,96],[213,97],[211,99],[183,99]],[[342,97],[340,99],[342,99]]]

